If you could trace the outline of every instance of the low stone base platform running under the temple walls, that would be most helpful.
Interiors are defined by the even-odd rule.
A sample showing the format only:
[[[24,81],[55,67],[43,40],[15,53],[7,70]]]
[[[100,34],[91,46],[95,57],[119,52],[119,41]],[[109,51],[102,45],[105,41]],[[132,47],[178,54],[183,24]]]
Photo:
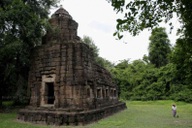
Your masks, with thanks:
[[[117,103],[90,111],[67,112],[64,110],[20,110],[19,120],[46,125],[85,125],[126,109],[125,103]]]

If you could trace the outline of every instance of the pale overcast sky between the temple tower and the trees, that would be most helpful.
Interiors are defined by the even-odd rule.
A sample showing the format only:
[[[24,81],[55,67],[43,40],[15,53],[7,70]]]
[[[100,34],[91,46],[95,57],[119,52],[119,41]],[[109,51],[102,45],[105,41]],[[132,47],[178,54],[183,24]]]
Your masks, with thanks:
[[[130,59],[133,61],[142,59],[144,54],[148,55],[151,32],[144,30],[135,37],[126,33],[123,39],[116,40],[113,33],[115,32],[118,15],[106,0],[61,0],[60,5],[79,24],[78,36],[81,38],[84,35],[91,37],[99,48],[101,57],[117,63],[119,60]],[[51,14],[57,9],[52,9]],[[179,23],[174,21],[173,24],[178,26]],[[167,28],[167,33],[171,44],[174,45],[176,29],[172,34],[169,34],[169,28]]]

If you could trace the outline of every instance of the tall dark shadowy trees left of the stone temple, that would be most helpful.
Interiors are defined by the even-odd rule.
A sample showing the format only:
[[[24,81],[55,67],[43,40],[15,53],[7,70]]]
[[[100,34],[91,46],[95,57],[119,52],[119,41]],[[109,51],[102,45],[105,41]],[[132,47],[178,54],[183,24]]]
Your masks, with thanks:
[[[1,0],[1,98],[2,95],[13,96],[18,89],[17,85],[22,85],[21,79],[27,80],[31,50],[40,44],[47,26],[49,9],[57,2],[58,0]]]

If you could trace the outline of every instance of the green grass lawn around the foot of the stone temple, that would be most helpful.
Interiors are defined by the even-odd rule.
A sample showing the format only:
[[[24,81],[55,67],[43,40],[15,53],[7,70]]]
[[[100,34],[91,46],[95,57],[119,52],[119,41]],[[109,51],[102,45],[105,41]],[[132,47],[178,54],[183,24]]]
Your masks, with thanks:
[[[75,128],[192,128],[192,104],[176,102],[179,118],[173,118],[173,101],[127,101],[127,110]],[[0,128],[58,128],[16,120],[16,112],[0,113]],[[72,128],[60,126],[59,128]]]

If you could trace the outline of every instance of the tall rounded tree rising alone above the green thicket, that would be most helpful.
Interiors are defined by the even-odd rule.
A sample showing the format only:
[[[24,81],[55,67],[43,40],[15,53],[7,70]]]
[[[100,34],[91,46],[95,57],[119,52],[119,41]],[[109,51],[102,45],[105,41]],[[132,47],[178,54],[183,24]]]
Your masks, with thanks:
[[[149,61],[159,68],[168,64],[168,55],[171,53],[171,45],[165,28],[155,28],[149,37]]]

